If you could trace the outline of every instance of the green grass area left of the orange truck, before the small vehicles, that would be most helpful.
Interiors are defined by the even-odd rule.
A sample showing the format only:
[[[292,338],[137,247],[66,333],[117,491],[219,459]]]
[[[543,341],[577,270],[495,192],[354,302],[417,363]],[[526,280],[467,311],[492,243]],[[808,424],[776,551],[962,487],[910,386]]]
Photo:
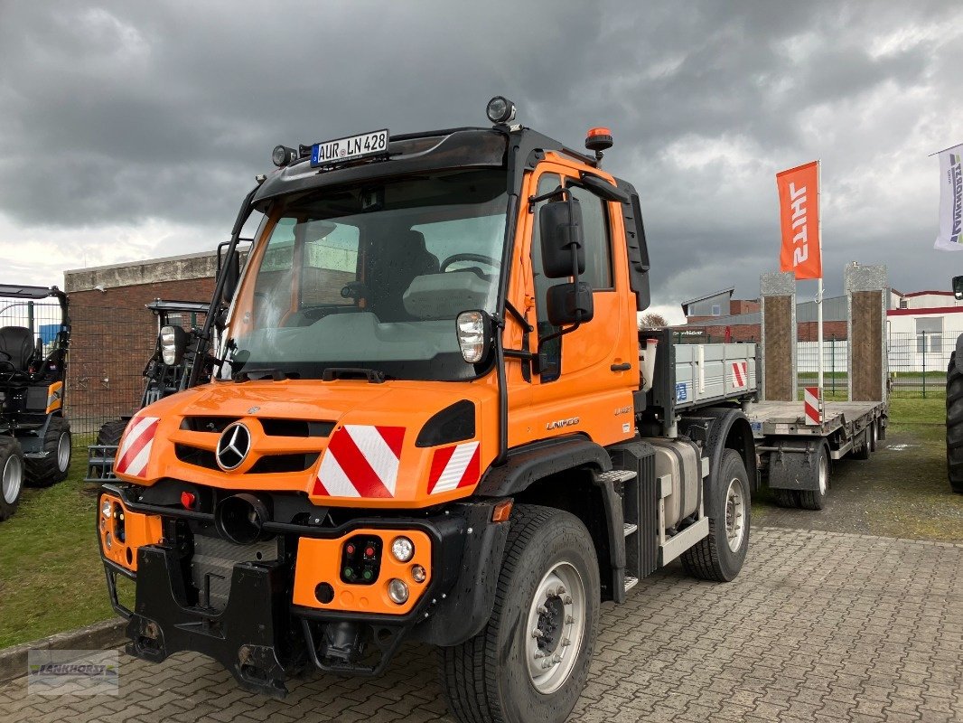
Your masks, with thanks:
[[[86,472],[87,447],[75,446],[66,480],[26,488],[0,522],[0,648],[114,617]]]

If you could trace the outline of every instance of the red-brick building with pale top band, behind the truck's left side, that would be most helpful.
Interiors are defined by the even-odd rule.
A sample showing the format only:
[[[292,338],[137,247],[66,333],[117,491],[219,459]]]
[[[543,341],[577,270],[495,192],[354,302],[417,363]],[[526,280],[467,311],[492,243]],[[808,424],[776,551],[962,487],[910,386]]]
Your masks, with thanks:
[[[216,269],[217,254],[206,252],[64,272],[73,324],[66,411],[75,431],[95,431],[135,409],[157,336],[145,305],[210,300]]]

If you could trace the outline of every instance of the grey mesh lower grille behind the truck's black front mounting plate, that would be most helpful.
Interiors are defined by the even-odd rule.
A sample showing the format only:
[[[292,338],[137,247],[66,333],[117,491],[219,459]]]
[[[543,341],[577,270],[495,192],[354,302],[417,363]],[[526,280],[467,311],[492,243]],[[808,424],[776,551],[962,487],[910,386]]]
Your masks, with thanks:
[[[231,594],[231,575],[239,562],[272,562],[277,559],[277,538],[251,545],[235,545],[220,537],[194,536],[191,581],[201,606],[223,610]]]

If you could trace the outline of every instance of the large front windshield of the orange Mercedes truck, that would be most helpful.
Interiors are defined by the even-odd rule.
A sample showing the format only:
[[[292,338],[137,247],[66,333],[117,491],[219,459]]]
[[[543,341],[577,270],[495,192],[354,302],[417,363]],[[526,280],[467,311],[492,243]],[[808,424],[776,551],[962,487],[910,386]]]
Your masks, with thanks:
[[[248,264],[221,375],[478,376],[455,317],[495,310],[506,183],[504,170],[458,171],[289,198]]]

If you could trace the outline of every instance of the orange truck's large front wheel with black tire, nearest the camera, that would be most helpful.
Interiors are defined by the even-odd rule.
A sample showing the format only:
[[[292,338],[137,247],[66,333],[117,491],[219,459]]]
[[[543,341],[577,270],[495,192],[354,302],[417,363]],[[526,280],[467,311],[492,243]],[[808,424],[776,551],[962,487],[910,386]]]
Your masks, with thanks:
[[[598,558],[586,526],[567,512],[517,504],[510,524],[491,618],[441,650],[442,687],[462,723],[561,723],[595,647]]]

